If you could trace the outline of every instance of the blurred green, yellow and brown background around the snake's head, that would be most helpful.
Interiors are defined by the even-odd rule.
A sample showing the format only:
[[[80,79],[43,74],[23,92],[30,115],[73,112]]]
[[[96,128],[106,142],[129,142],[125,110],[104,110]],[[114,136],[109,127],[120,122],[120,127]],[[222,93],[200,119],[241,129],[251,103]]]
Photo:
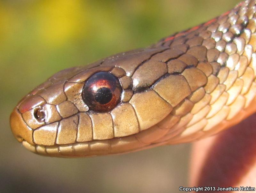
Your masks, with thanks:
[[[190,144],[107,157],[38,156],[12,136],[22,96],[61,69],[146,47],[239,0],[0,1],[0,191],[179,192]]]

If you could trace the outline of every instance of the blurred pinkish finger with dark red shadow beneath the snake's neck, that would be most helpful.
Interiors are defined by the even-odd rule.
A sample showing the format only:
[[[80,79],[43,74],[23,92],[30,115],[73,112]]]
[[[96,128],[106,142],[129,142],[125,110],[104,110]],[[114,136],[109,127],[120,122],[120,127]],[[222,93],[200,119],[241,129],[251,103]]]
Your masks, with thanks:
[[[256,184],[256,114],[219,135],[196,142],[191,186],[254,187]]]

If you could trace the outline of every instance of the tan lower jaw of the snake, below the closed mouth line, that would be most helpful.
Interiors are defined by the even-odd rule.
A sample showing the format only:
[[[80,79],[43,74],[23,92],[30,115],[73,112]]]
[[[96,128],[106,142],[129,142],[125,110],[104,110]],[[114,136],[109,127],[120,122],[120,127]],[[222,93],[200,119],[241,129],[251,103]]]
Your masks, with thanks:
[[[130,136],[128,136],[130,137]],[[127,138],[127,137],[124,137]],[[166,144],[166,142],[161,143],[152,143],[152,144],[144,144],[140,141],[130,141],[132,138],[125,139],[125,141],[121,141],[121,139],[111,140],[97,140],[92,142],[77,142],[73,144],[65,144],[65,145],[32,145],[27,141],[23,140],[22,145],[29,151],[42,155],[42,156],[50,156],[57,158],[84,158],[84,157],[95,157],[95,156],[104,156],[104,155],[116,155],[116,154],[124,154],[135,151],[141,151],[148,148],[153,148],[157,146],[161,146]],[[108,142],[107,142],[108,141]],[[114,141],[114,142],[109,142]]]

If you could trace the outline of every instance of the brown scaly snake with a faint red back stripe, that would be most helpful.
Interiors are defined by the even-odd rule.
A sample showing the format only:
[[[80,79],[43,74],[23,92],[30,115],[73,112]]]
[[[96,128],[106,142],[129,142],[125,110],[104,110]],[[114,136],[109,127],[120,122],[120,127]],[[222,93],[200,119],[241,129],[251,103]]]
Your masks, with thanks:
[[[218,134],[256,111],[256,1],[144,48],[62,70],[10,126],[39,155],[90,157]]]

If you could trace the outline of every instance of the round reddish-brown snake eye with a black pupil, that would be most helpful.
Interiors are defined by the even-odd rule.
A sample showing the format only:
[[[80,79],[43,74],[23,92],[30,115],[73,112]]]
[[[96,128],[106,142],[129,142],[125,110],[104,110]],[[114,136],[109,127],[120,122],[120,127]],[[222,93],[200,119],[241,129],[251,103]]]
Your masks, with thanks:
[[[93,74],[84,84],[82,98],[92,111],[105,112],[113,109],[121,96],[121,85],[109,72]]]

